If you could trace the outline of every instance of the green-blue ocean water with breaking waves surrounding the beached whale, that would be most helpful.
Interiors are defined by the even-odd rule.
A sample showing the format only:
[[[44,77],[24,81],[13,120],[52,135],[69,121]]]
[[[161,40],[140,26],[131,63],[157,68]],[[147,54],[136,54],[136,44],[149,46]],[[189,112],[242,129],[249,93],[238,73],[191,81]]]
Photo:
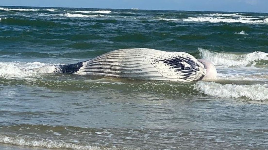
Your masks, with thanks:
[[[32,68],[122,48],[187,52],[217,80]],[[0,149],[268,149],[268,13],[0,6]]]

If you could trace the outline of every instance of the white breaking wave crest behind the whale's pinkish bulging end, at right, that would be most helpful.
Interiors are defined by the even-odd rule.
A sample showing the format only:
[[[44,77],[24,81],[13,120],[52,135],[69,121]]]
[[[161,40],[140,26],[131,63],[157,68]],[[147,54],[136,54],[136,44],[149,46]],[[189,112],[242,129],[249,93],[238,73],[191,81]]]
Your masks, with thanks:
[[[247,54],[218,53],[199,48],[201,58],[210,60],[214,65],[220,66],[246,66],[257,60],[268,60],[268,53],[252,52]]]

